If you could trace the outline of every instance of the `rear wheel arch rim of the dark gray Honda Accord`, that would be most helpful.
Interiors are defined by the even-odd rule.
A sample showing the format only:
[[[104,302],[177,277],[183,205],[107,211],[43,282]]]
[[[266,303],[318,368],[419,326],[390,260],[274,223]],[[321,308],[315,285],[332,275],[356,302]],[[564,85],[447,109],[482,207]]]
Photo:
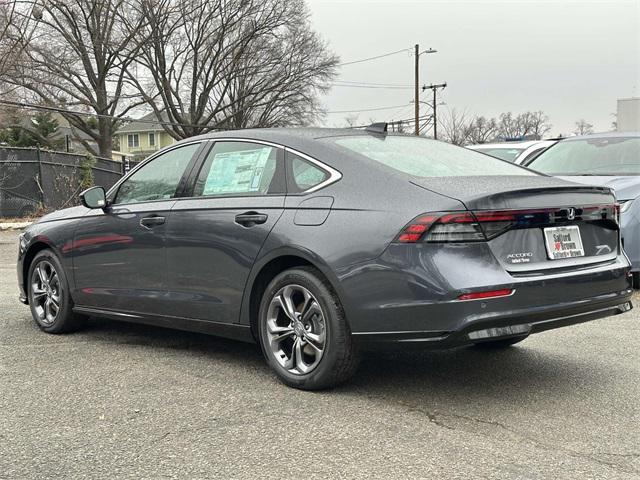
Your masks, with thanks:
[[[331,268],[315,254],[299,248],[284,248],[273,251],[254,265],[242,299],[240,323],[251,327],[251,333],[256,342],[258,340],[258,310],[262,292],[276,275],[290,268],[301,266],[313,267],[318,270],[342,301],[343,296],[338,278]]]

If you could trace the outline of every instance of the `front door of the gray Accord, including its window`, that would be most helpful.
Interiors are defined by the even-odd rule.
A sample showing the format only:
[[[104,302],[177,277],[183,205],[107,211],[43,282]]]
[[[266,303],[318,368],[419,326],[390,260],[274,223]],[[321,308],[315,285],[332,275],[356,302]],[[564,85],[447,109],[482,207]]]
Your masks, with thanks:
[[[163,313],[169,214],[201,145],[180,145],[146,162],[109,193],[109,208],[91,210],[79,223],[67,247],[76,304]]]

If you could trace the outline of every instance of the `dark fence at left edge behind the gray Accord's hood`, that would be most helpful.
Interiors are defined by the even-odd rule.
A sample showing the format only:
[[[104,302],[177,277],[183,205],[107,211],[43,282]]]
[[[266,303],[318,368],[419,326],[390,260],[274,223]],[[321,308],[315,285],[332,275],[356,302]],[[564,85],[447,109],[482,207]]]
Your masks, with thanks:
[[[110,188],[121,162],[36,148],[0,147],[0,217],[24,217],[77,205],[82,188]]]

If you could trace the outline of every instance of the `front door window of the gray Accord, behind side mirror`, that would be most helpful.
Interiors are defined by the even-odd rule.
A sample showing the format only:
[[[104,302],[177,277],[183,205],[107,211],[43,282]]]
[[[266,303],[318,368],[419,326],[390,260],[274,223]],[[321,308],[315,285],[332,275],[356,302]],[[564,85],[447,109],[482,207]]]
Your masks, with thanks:
[[[191,157],[199,147],[199,143],[193,143],[174,148],[154,158],[120,185],[114,203],[126,204],[173,198]]]

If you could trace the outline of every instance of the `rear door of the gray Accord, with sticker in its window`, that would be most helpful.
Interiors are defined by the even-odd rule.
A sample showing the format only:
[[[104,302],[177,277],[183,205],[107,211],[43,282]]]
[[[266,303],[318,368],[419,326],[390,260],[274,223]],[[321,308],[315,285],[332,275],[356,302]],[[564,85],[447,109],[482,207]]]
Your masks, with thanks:
[[[170,315],[239,320],[253,262],[284,209],[283,155],[249,140],[210,145],[167,225]]]

